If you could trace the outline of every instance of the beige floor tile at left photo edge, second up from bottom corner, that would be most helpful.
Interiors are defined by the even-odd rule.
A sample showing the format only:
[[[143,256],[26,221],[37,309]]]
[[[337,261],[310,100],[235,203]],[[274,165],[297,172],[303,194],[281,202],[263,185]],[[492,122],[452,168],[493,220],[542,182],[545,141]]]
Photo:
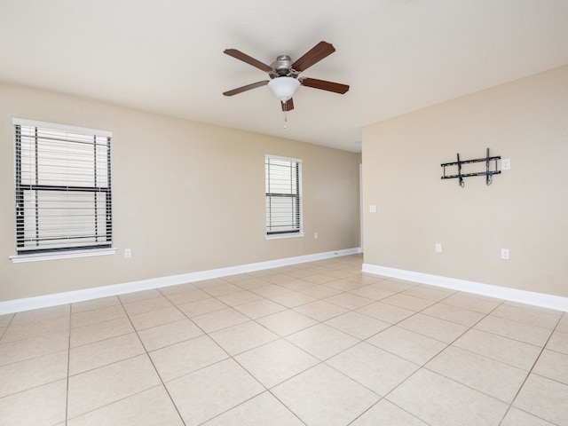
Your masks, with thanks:
[[[67,351],[0,367],[0,398],[67,377]]]

